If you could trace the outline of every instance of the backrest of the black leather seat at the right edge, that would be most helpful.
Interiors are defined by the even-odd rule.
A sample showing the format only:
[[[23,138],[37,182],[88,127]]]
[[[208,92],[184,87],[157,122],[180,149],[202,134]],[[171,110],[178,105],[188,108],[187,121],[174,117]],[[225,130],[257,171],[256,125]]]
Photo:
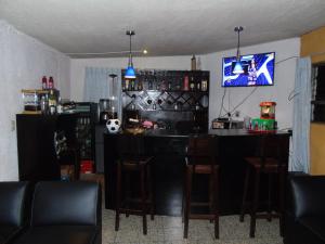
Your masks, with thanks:
[[[325,216],[324,177],[300,176],[291,179],[295,216]]]

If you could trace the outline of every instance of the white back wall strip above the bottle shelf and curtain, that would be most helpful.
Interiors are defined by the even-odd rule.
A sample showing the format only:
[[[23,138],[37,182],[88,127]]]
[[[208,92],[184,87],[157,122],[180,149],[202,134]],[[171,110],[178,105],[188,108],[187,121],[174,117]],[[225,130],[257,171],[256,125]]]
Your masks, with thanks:
[[[134,57],[135,68],[190,69],[192,56]],[[126,68],[128,57],[118,59],[75,59],[72,60],[72,99],[83,101],[84,68]]]

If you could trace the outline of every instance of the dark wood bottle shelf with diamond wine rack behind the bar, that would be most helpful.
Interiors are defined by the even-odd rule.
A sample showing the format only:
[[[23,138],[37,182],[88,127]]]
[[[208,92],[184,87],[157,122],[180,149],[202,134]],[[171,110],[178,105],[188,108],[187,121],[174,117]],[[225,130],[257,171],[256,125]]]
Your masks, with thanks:
[[[122,80],[123,124],[134,113],[169,130],[207,131],[209,72],[136,70],[135,80]]]

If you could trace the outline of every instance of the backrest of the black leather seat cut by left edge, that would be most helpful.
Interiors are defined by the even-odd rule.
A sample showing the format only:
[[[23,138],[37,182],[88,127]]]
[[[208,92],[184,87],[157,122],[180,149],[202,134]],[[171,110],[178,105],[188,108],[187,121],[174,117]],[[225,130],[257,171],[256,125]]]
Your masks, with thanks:
[[[0,183],[0,226],[23,223],[26,187],[26,182]]]

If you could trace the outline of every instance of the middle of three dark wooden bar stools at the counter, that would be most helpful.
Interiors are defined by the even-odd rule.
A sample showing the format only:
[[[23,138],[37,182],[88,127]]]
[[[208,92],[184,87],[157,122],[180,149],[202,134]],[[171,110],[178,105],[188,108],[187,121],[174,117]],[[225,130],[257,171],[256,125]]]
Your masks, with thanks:
[[[218,174],[219,166],[216,163],[216,139],[208,136],[190,137],[185,157],[185,197],[183,200],[184,239],[188,235],[190,219],[209,219],[214,221],[214,237],[219,239],[219,207],[218,207]],[[193,177],[207,175],[209,177],[209,201],[192,202]],[[185,202],[185,203],[184,203]],[[191,207],[209,207],[208,214],[193,214]]]

